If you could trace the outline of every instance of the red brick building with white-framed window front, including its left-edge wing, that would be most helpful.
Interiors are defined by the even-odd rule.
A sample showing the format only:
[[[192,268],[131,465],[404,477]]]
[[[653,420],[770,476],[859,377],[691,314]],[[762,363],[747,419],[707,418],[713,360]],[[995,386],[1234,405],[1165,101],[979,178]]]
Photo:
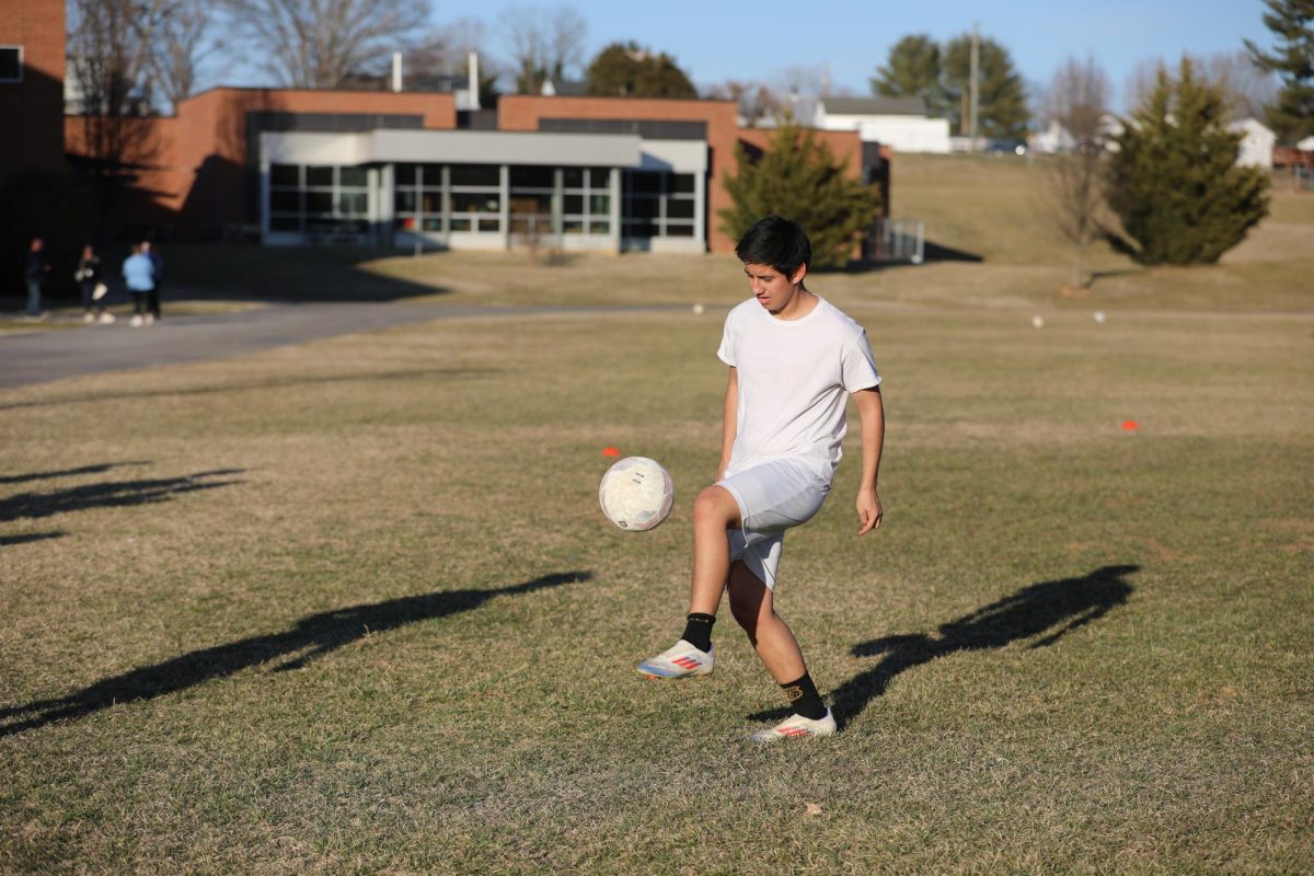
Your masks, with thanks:
[[[20,49],[22,72],[0,76],[0,112],[22,125],[0,141],[0,162],[67,154],[75,168],[104,167],[92,147],[100,120],[62,116],[63,0],[0,3],[0,46]],[[728,101],[515,95],[469,110],[442,92],[226,87],[172,117],[114,125],[129,183],[116,218],[135,230],[611,252],[732,250],[717,219],[724,180],[738,143],[769,137],[740,129]],[[884,158],[857,133],[817,137],[855,177],[883,179]]]

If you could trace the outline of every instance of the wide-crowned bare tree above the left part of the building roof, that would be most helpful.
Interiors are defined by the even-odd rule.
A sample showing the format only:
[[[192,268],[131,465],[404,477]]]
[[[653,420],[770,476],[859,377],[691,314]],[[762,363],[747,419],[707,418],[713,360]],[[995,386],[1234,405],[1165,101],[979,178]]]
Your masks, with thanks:
[[[293,88],[335,88],[371,59],[410,45],[428,0],[223,0],[264,68]]]

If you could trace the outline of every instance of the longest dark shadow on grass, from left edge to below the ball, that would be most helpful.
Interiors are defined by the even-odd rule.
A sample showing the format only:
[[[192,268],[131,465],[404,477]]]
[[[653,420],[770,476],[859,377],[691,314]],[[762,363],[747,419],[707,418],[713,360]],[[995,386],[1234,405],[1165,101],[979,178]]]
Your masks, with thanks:
[[[102,679],[57,700],[34,700],[26,705],[0,708],[0,721],[9,721],[0,725],[0,737],[83,717],[118,703],[175,693],[271,661],[283,661],[272,667],[276,672],[301,668],[365,636],[472,611],[494,596],[516,596],[590,578],[590,571],[566,571],[494,590],[452,590],[403,596],[310,615],[283,633],[251,636],[227,645],[189,651],[163,663]]]

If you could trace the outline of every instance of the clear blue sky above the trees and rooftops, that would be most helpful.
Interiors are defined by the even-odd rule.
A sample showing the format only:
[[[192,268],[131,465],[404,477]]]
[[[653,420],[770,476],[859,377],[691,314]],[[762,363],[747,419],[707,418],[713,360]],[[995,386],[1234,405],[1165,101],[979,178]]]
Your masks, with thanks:
[[[1001,42],[1029,83],[1045,84],[1067,55],[1092,54],[1108,71],[1121,105],[1138,62],[1183,51],[1233,51],[1250,38],[1271,45],[1261,0],[435,0],[435,24],[460,17],[487,24],[498,49],[507,9],[569,5],[589,22],[587,53],[636,39],[675,56],[698,85],[727,79],[770,81],[791,66],[828,64],[830,81],[869,93],[867,80],[890,47],[909,33],[947,39],[980,25]]]

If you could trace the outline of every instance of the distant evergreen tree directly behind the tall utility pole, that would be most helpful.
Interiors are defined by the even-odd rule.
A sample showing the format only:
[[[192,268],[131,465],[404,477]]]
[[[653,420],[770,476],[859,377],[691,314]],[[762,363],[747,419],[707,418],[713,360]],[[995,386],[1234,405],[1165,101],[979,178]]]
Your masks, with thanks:
[[[951,39],[942,53],[942,88],[950,125],[968,134],[971,116],[972,37]],[[1026,106],[1026,87],[1013,67],[1008,49],[983,37],[978,49],[980,84],[976,95],[976,135],[1017,139],[1026,135],[1031,113]]]

